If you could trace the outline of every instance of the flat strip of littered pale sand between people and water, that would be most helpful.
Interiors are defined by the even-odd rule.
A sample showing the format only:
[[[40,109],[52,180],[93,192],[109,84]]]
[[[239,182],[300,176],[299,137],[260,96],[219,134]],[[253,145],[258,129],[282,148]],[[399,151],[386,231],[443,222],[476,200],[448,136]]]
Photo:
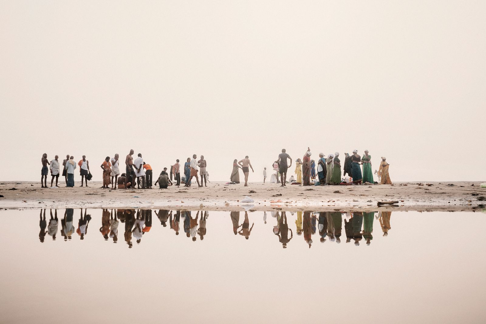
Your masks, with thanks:
[[[207,188],[169,187],[168,189],[102,189],[101,182],[89,188],[40,188],[40,182],[2,182],[0,208],[154,208],[243,210],[377,210],[378,201],[399,201],[398,207],[380,210],[471,210],[483,208],[486,188],[481,182],[396,183],[374,186],[280,187],[277,184],[251,183],[249,187],[212,182]],[[79,183],[77,183],[79,186]],[[16,188],[16,190],[10,190]],[[249,193],[250,190],[256,191]],[[275,196],[280,195],[281,196]],[[241,202],[245,196],[254,203]],[[275,196],[275,197],[274,197]],[[403,202],[402,202],[403,201]]]

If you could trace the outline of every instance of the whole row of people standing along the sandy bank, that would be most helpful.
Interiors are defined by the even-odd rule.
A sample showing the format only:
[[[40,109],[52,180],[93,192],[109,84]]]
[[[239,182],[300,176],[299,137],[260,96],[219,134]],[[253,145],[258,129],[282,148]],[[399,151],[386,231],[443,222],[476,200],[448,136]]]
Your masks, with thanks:
[[[119,154],[115,154],[110,158],[106,156],[101,169],[103,170],[103,186],[102,188],[137,188],[137,189],[150,189],[153,183],[153,169],[150,164],[145,163],[142,158],[142,154],[138,153],[137,158],[133,158],[134,150],[130,150],[125,158],[125,172],[120,171]],[[372,185],[372,184],[392,184],[390,175],[388,173],[389,164],[386,162],[386,157],[382,157],[380,161],[379,170],[375,170],[375,174],[378,175],[378,182],[373,179],[373,172],[371,168],[371,155],[367,150],[364,151],[364,155],[358,154],[358,150],[353,150],[352,155],[345,153],[344,163],[341,165],[341,159],[339,158],[339,152],[334,154],[328,154],[327,157],[324,153],[319,153],[319,159],[317,164],[311,158],[311,149],[307,148],[306,153],[302,159],[297,158],[295,160],[295,176],[292,175],[287,180],[287,173],[290,167],[292,167],[292,158],[282,149],[282,153],[278,155],[278,159],[273,163],[273,170],[276,173],[272,174],[270,182],[280,183],[281,187],[287,186],[287,184],[302,185],[302,186],[326,186],[326,185]],[[47,153],[42,156],[42,170],[41,170],[41,187],[48,188],[47,176],[49,171],[51,172],[51,188],[55,180],[55,187],[59,187],[58,179],[61,175],[64,176],[66,187],[74,187],[74,171],[79,167],[81,176],[81,186],[88,187],[88,181],[91,180],[91,172],[89,171],[89,161],[86,156],[79,162],[74,161],[72,155],[66,155],[66,159],[62,161],[62,169],[58,155],[55,155],[54,159],[49,162],[47,159]],[[183,167],[184,176],[181,177],[181,165],[179,159],[176,159],[174,165],[170,166],[170,173],[167,173],[167,168],[164,168],[160,172],[155,185],[159,185],[159,188],[168,188],[174,185],[180,186],[184,184],[185,187],[191,187],[191,182],[195,178],[198,187],[208,186],[208,163],[204,158],[204,155],[197,159],[197,155],[193,154],[192,158],[188,157]],[[317,172],[316,172],[317,166]],[[244,186],[248,186],[248,176],[250,169],[255,172],[251,165],[248,155],[238,161],[233,161],[233,170],[230,175],[230,183],[240,183],[240,170],[243,171]],[[347,177],[346,177],[347,175]],[[263,169],[263,183],[267,178],[267,169]],[[201,179],[201,182],[199,182]],[[141,184],[141,187],[140,187]],[[111,187],[110,187],[111,186]]]

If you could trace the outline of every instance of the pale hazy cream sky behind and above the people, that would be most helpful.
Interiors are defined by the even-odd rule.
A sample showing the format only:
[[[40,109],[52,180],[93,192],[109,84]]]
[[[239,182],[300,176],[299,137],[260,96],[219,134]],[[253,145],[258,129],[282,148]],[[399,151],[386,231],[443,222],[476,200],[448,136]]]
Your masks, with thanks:
[[[392,181],[486,180],[485,1],[1,1],[0,180],[42,153],[368,149]],[[344,154],[343,154],[344,155]],[[292,170],[293,171],[293,170]],[[76,180],[79,176],[76,177]]]

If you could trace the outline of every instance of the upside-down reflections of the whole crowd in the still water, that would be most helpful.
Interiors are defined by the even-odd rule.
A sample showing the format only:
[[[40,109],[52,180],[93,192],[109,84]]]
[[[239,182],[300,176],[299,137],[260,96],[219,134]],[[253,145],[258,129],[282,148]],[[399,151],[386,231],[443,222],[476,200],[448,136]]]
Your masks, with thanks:
[[[175,235],[179,235],[181,217],[183,218],[182,226],[187,238],[196,241],[199,237],[203,240],[207,229],[206,222],[209,217],[208,211],[198,210],[166,210],[159,209],[154,211],[160,224],[167,227],[167,222]],[[250,211],[251,212],[251,211]],[[195,213],[195,215],[194,215]],[[244,211],[243,222],[240,220],[240,211],[231,211],[229,213],[232,225],[233,234],[241,235],[245,239],[249,239],[253,226],[248,217],[248,211]],[[278,241],[283,248],[287,248],[289,242],[294,238],[294,232],[289,227],[287,220],[287,213],[292,216],[294,212],[286,211],[271,211],[271,215],[276,219],[276,225],[273,226],[273,233],[278,237]],[[355,245],[360,245],[364,240],[366,245],[371,244],[373,239],[373,222],[375,219],[379,220],[382,228],[383,236],[388,235],[390,227],[391,211],[375,212],[312,212],[312,211],[297,211],[295,220],[295,233],[297,236],[303,236],[304,241],[312,247],[312,237],[318,235],[319,241],[324,243],[336,242],[341,243],[341,234],[344,221],[344,230],[346,234],[346,243],[353,242]],[[80,209],[80,218],[78,227],[75,229],[73,222],[74,209],[67,208],[64,212],[64,217],[61,219],[61,236],[65,241],[71,240],[74,233],[77,233],[80,239],[85,239],[88,233],[88,225],[91,221],[91,215],[87,214],[87,209]],[[129,248],[133,247],[133,241],[140,243],[143,236],[150,232],[152,228],[152,210],[151,209],[106,209],[102,211],[100,233],[104,240],[112,239],[114,243],[118,242],[118,226],[124,223],[124,240]],[[267,213],[263,212],[263,222],[267,223]],[[44,242],[46,234],[56,239],[57,230],[59,227],[59,220],[57,209],[50,209],[49,225],[46,220],[46,209],[40,210],[39,221],[39,240]],[[46,230],[47,228],[47,230]]]

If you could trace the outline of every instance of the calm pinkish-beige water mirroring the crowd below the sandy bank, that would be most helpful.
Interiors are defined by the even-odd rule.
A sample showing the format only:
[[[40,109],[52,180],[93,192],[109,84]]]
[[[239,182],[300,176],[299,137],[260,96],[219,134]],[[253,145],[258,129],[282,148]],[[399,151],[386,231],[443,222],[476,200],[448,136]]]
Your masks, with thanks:
[[[472,212],[2,210],[0,323],[484,323],[485,226]]]

